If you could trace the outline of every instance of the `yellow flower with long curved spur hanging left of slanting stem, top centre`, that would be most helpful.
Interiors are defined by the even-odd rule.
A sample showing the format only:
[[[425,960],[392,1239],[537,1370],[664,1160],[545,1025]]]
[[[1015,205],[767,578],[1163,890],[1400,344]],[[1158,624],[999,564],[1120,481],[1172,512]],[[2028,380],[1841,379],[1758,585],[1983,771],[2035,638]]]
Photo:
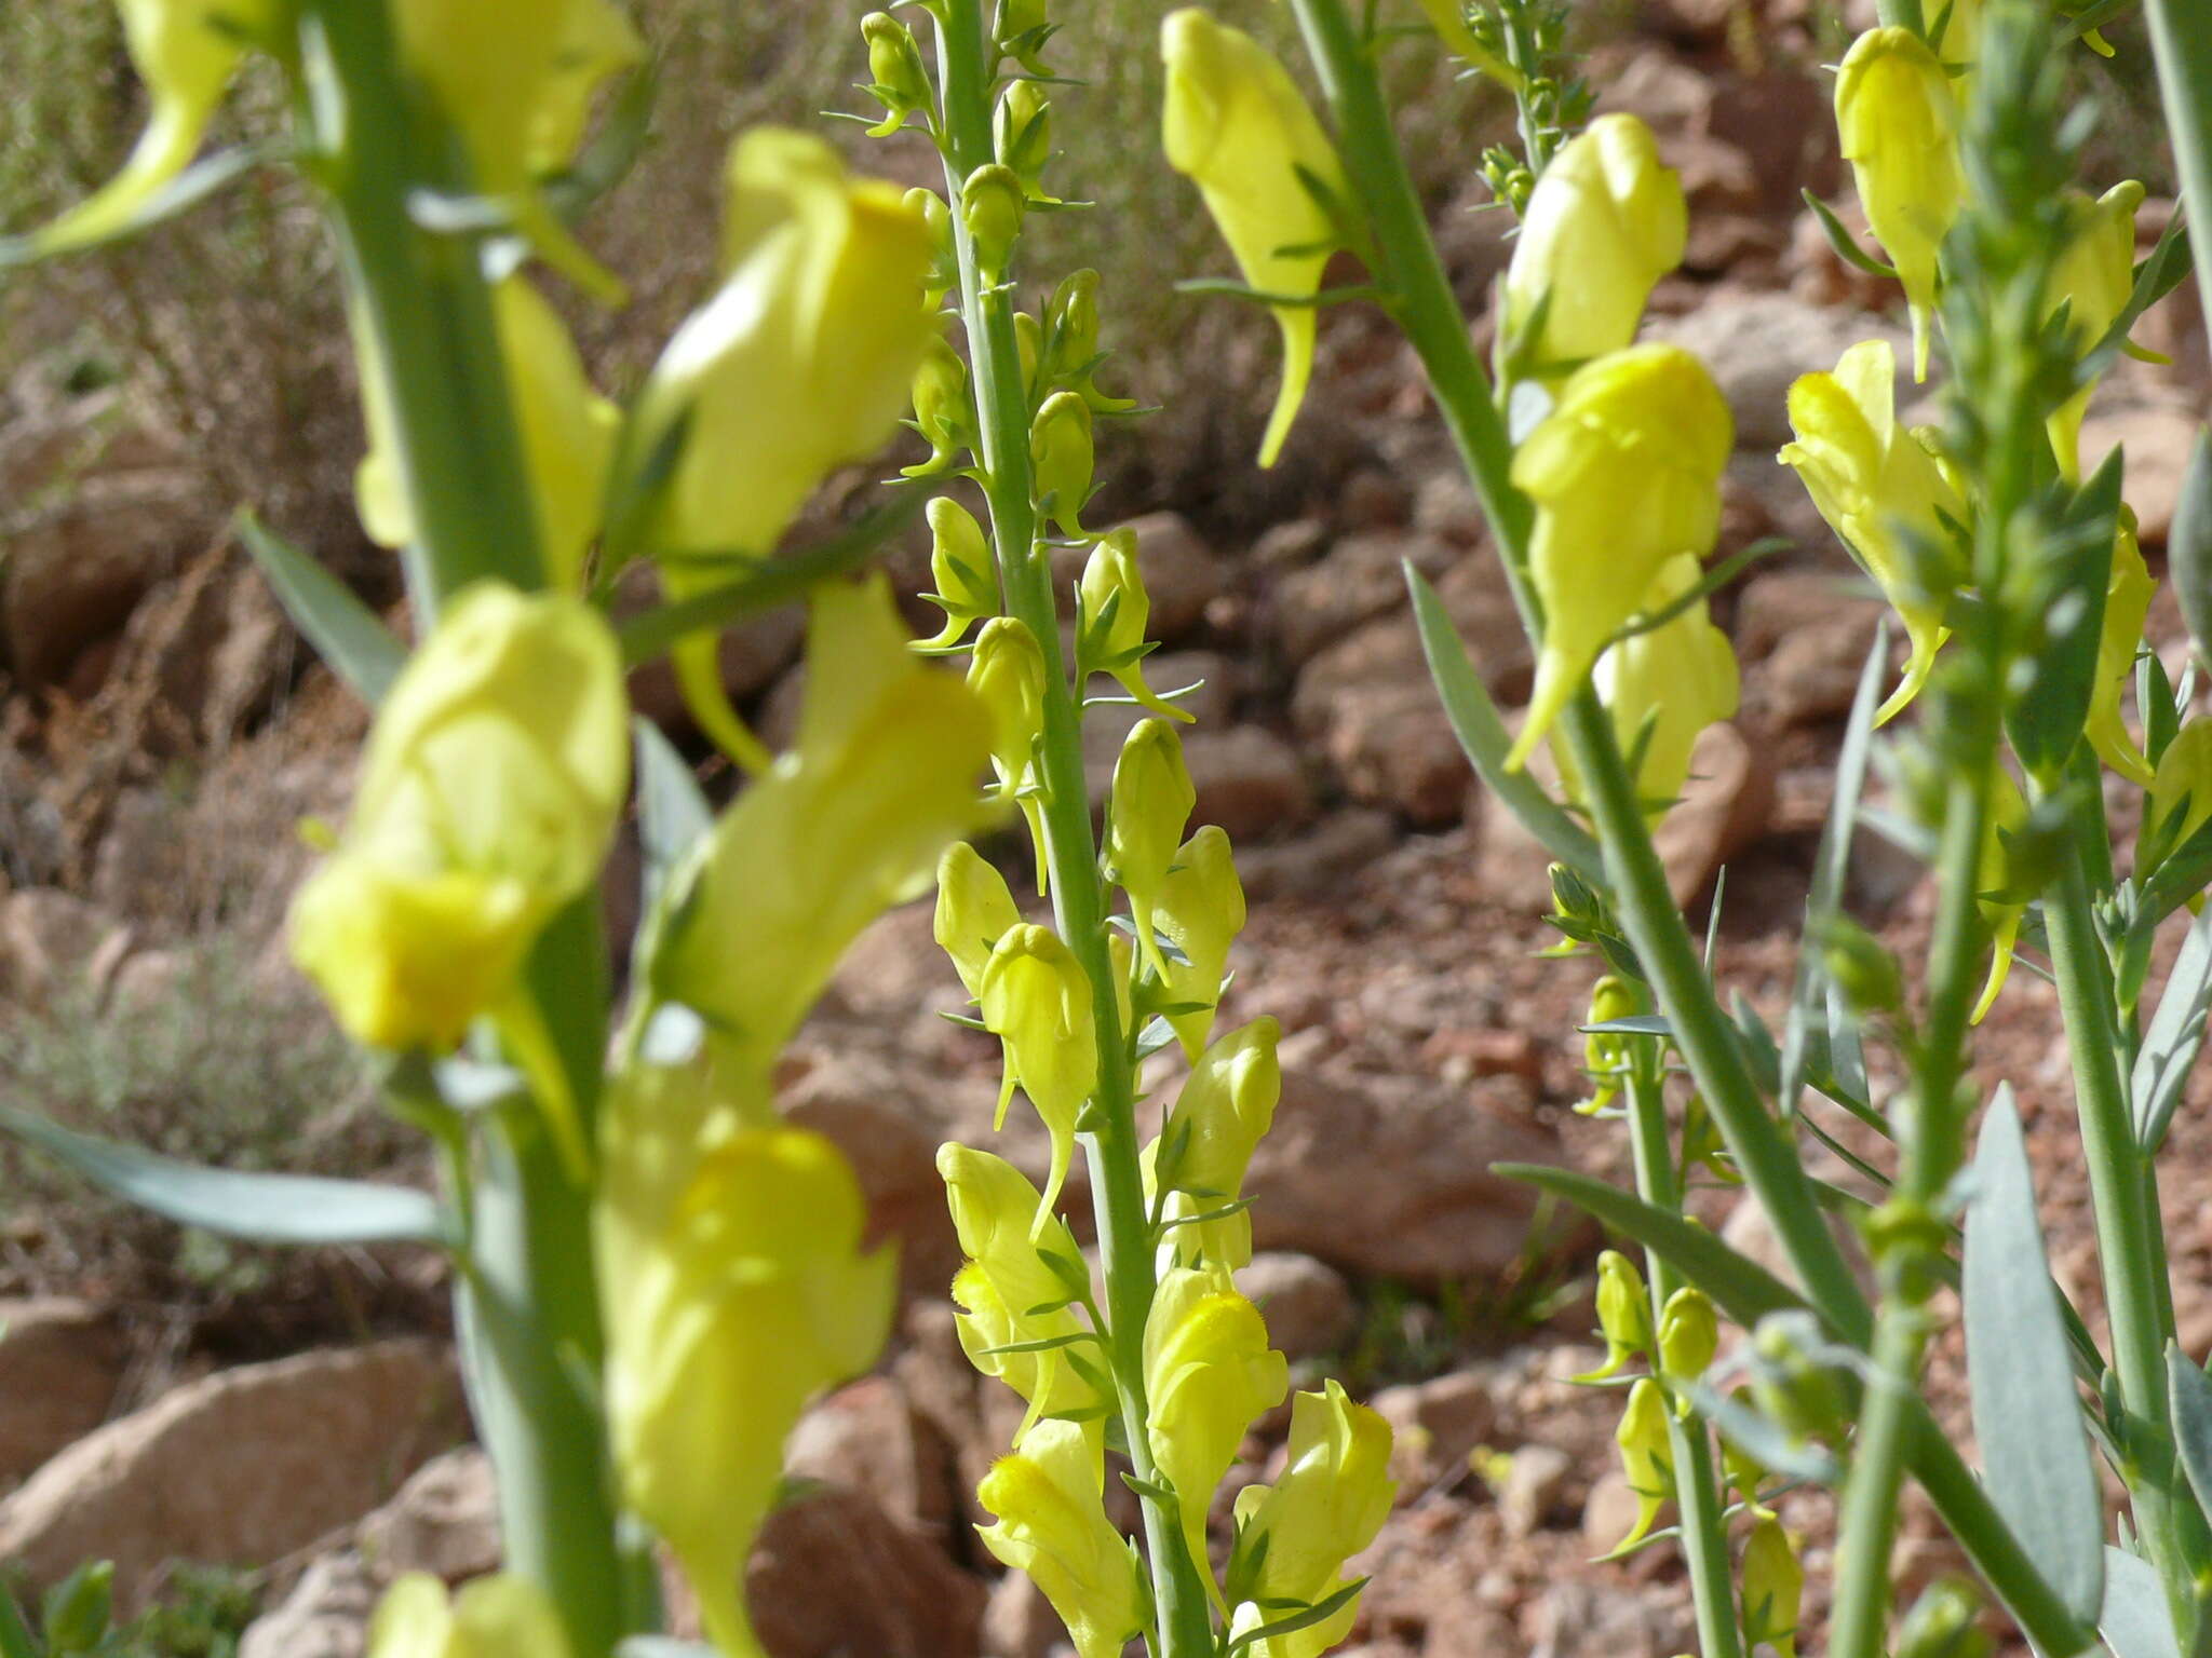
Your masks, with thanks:
[[[1321,292],[1343,232],[1307,179],[1338,203],[1352,192],[1336,146],[1290,71],[1252,35],[1194,7],[1168,13],[1159,51],[1168,64],[1168,166],[1199,186],[1245,283],[1263,294]],[[1276,305],[1274,321],[1283,332],[1283,389],[1261,440],[1261,466],[1283,453],[1314,374],[1314,307]]]

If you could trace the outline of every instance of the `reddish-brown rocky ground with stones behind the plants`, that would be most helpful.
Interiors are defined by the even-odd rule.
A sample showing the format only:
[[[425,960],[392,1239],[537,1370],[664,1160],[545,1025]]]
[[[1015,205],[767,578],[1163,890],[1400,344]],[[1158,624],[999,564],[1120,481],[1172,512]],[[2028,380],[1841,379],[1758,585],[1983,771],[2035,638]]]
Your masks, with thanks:
[[[1774,49],[1787,29],[1745,46],[1725,27],[1734,7],[1674,0],[1655,13],[1666,38],[1610,46],[1590,71],[1608,88],[1601,106],[1646,115],[1690,186],[1688,270],[1661,287],[1652,334],[1705,354],[1736,416],[1723,550],[1767,535],[1794,548],[1719,604],[1743,657],[1743,712],[1701,749],[1666,858],[1699,913],[1725,867],[1717,966],[1772,1010],[1878,615],[1774,464],[1783,391],[1858,338],[1902,334],[1891,296],[1798,208],[1801,183],[1838,188],[1807,51]],[[1504,256],[1495,214],[1467,212],[1478,199],[1471,188],[1440,221],[1471,301]],[[2084,447],[2095,460],[2126,442],[2128,495],[2157,559],[2208,389],[2188,290],[2139,338],[2181,367],[2115,374]],[[1566,1110],[1582,1094],[1573,1024],[1590,970],[1540,955],[1555,942],[1537,920],[1542,856],[1473,783],[1436,707],[1400,564],[1438,584],[1506,705],[1526,694],[1528,652],[1407,351],[1347,314],[1316,387],[1265,491],[1234,513],[1201,500],[1137,520],[1166,639],[1152,681],[1206,681],[1188,741],[1199,818],[1237,840],[1254,900],[1230,1015],[1272,1012],[1285,1028],[1285,1099],[1248,1183],[1263,1249],[1248,1289],[1301,1373],[1347,1375],[1400,1428],[1398,1510],[1363,1563],[1363,1654],[1663,1658],[1692,1645],[1670,1550],[1593,1563],[1632,1510],[1610,1472],[1617,1397],[1568,1384],[1593,1364],[1577,1282],[1593,1238],[1489,1174],[1506,1158],[1621,1172],[1617,1127]],[[254,1032],[283,1032],[299,1052],[323,1039],[274,928],[303,860],[290,827],[343,811],[363,721],[301,661],[228,537],[210,535],[179,455],[113,393],[15,405],[0,424],[0,500],[77,475],[0,566],[0,1068],[15,1085],[33,1035],[46,1048],[117,1032],[144,1046],[164,1019],[206,1024],[210,977],[246,988]],[[358,548],[332,557],[372,570]],[[900,559],[918,586],[914,550]],[[2179,639],[2163,597],[2154,628]],[[763,619],[726,650],[732,692],[770,732],[792,718],[796,650],[796,617]],[[679,723],[666,679],[635,690]],[[1119,741],[1108,725],[1099,785]],[[1854,911],[1911,953],[1920,873],[1860,840]],[[1044,1658],[1062,1640],[1035,1592],[995,1578],[967,1530],[969,1492],[1018,1410],[969,1373],[942,1293],[956,1247],[933,1150],[987,1141],[995,1090],[993,1046],[936,1017],[958,999],[927,911],[894,913],[847,959],[783,1079],[792,1116],[854,1154],[876,1231],[900,1242],[907,1304],[883,1371],[825,1399],[792,1446],[794,1470],[821,1486],[779,1512],[754,1563],[779,1658]],[[2059,1280],[2095,1307],[2055,1032],[2051,990],[2020,973],[1980,1059],[2022,1092]],[[257,1063],[241,1072],[248,1092],[265,1081]],[[49,1066],[40,1079],[62,1088],[75,1074]],[[345,1081],[343,1066],[330,1077]],[[175,1099],[144,1068],[86,1090],[100,1110],[77,1121],[170,1150],[208,1132],[173,1132]],[[217,1150],[414,1178],[394,1136],[365,1130],[343,1099],[321,1105],[250,1145],[217,1134]],[[2199,1092],[2166,1180],[2192,1353],[2212,1344],[2212,1218],[2194,1196],[2203,1110]],[[1042,1134],[1020,1114],[1000,1145],[1042,1163]],[[250,1658],[358,1654],[361,1618],[392,1574],[458,1581],[495,1563],[436,1265],[226,1258],[188,1271],[166,1234],[117,1231],[111,1211],[88,1220],[49,1174],[18,1174],[33,1196],[0,1234],[0,1287],[18,1295],[0,1333],[0,1559],[44,1583],[113,1556],[128,1603],[157,1594],[177,1559],[252,1565],[268,1614]],[[1071,1196],[1082,1214],[1079,1180]],[[1736,1242],[1763,1247],[1761,1218],[1732,1194],[1701,1203]],[[1951,1364],[1942,1355],[1940,1375]],[[1243,1479],[1267,1477],[1285,1421],[1254,1433]],[[1812,1536],[1818,1585],[1825,1501],[1792,1497],[1785,1519]],[[1900,1576],[1947,1561],[1916,1517]]]

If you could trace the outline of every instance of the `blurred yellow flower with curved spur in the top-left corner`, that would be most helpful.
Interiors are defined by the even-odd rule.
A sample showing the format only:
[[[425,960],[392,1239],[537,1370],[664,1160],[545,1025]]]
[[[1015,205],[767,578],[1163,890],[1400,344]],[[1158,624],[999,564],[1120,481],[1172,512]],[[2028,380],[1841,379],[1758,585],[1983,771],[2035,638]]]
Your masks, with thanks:
[[[192,161],[246,55],[241,38],[265,35],[276,22],[274,0],[115,0],[115,11],[131,66],[146,82],[150,119],[113,179],[29,234],[33,254],[66,254],[119,234]]]

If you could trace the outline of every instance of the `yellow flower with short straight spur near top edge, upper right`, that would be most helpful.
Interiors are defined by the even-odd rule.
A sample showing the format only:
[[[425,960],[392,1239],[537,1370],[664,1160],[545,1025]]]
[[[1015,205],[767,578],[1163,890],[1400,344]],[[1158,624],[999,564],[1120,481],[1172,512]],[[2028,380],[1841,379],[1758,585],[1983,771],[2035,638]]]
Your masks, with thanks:
[[[1929,371],[1936,252],[1966,186],[1958,97],[1942,62],[1911,29],[1869,29],[1836,75],[1836,133],[1858,181],[1867,228],[1889,252],[1913,316],[1913,378]]]

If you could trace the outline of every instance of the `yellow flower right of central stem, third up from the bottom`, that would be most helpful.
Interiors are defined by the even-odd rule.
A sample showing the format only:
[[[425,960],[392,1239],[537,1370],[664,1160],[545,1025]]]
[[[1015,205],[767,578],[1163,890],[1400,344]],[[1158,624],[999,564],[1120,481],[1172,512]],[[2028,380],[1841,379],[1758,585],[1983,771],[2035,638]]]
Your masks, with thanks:
[[[1168,1185],[1161,1214],[1181,1220],[1161,1242],[1161,1267],[1245,1267],[1252,1260],[1252,1214],[1197,1220],[1237,1200],[1252,1152],[1283,1099],[1276,1043],[1283,1026],[1261,1017],[1232,1030],[1190,1068],[1159,1138],[1146,1147],[1146,1198]],[[1161,1169],[1161,1158],[1168,1167]]]

